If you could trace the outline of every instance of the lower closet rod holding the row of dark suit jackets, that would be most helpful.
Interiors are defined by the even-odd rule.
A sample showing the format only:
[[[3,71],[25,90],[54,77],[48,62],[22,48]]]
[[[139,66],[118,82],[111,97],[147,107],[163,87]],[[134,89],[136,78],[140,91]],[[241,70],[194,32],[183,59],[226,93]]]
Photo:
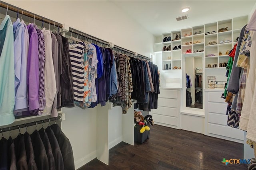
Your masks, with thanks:
[[[60,118],[61,118],[61,116],[58,116],[58,117],[52,117],[52,118],[39,120],[39,121],[33,121],[33,122],[30,122],[30,123],[24,123],[24,124],[21,124],[21,125],[5,127],[5,128],[1,128],[0,132],[3,133],[3,132],[7,132],[7,131],[13,131],[13,130],[16,130],[16,129],[24,128],[24,127],[34,126],[34,125],[38,125],[38,124],[42,124],[42,123],[47,123],[47,122],[49,122],[49,120],[50,121],[56,121],[56,120],[59,120]]]

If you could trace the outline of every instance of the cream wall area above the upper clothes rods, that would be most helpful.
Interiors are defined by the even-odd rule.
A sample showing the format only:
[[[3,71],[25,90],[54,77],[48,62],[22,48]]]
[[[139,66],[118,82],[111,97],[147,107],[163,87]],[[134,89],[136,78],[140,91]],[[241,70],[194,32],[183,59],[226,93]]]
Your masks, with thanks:
[[[3,1],[141,55],[153,53],[154,36],[110,1]]]

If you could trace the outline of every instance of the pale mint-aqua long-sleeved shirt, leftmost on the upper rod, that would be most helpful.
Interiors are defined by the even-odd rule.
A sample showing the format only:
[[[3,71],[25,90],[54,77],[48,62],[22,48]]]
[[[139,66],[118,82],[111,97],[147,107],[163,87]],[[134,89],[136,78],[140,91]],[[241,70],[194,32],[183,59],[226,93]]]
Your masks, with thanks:
[[[14,37],[10,16],[0,25],[0,125],[14,122]]]

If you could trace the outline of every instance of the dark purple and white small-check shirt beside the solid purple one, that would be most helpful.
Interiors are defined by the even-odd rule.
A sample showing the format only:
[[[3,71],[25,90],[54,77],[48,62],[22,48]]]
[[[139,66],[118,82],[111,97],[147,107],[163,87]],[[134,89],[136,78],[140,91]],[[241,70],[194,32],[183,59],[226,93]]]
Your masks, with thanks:
[[[41,115],[46,105],[45,87],[44,87],[44,65],[45,65],[45,47],[44,34],[41,29],[36,28],[38,33],[38,58],[39,58],[39,109],[31,110],[30,114]]]

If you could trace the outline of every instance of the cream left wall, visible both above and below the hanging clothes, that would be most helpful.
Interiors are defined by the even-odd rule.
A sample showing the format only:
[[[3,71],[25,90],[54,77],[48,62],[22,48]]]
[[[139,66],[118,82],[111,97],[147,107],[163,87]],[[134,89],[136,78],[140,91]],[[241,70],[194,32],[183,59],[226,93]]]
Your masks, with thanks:
[[[149,57],[154,36],[109,1],[8,1],[39,16]],[[31,19],[32,21],[33,19]],[[100,107],[100,106],[98,106]],[[63,132],[70,139],[76,168],[96,157],[97,109],[63,108]],[[109,143],[122,139],[122,109],[114,107],[109,119]],[[106,120],[107,121],[107,120]]]

